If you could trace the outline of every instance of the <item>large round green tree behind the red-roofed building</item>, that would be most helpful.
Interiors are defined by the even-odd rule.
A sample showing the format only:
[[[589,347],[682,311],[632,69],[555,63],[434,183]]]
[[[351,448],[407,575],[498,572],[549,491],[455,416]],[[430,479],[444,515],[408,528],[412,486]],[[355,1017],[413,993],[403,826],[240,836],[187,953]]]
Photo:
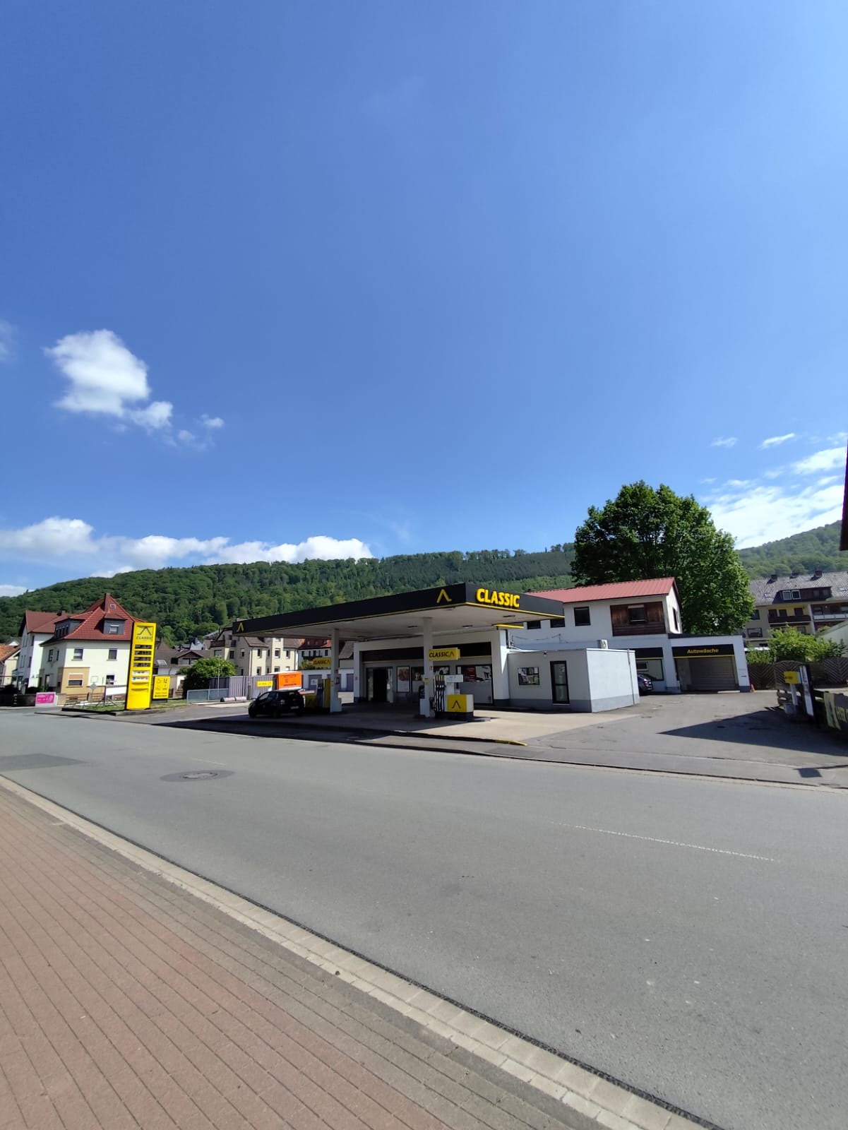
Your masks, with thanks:
[[[738,632],[754,608],[731,534],[691,495],[662,485],[632,483],[603,508],[589,506],[571,574],[578,585],[673,576],[683,631],[701,635]]]

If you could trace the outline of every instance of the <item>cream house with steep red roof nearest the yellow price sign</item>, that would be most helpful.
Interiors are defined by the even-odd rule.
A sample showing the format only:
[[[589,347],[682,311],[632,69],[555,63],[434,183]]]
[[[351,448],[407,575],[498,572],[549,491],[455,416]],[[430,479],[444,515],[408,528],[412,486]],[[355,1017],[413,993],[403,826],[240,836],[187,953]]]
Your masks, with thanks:
[[[42,643],[38,686],[60,694],[125,687],[135,617],[106,593],[82,612],[61,615]]]

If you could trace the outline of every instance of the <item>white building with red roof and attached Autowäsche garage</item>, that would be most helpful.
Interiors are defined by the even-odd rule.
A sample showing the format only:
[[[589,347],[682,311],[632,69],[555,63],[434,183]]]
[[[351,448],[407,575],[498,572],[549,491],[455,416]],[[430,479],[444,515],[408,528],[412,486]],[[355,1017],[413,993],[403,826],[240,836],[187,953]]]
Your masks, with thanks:
[[[533,596],[560,601],[562,618],[528,620],[526,628],[510,628],[513,647],[632,651],[637,671],[649,676],[658,692],[750,689],[742,636],[685,635],[672,576],[550,589]]]

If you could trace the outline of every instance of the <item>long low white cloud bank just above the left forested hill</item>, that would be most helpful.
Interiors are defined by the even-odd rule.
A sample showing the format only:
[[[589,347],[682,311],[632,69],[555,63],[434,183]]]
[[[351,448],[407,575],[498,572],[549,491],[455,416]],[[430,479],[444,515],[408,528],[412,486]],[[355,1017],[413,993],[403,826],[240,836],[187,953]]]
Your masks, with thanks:
[[[114,576],[137,568],[163,568],[234,562],[303,562],[308,558],[373,557],[358,538],[331,538],[324,534],[299,542],[271,545],[243,541],[236,545],[226,537],[171,538],[148,534],[143,538],[95,536],[94,527],[78,518],[46,518],[19,530],[0,530],[0,558],[51,563],[72,558],[91,571],[93,576]]]

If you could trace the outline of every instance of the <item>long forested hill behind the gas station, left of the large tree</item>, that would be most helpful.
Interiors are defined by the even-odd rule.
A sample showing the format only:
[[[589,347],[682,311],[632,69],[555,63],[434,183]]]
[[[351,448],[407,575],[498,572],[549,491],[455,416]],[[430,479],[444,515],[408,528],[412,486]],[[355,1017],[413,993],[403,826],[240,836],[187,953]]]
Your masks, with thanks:
[[[308,560],[298,565],[195,565],[62,581],[20,597],[0,598],[0,641],[15,636],[27,608],[76,612],[111,592],[128,612],[159,625],[168,643],[184,643],[236,617],[272,616],[344,600],[365,600],[437,584],[475,582],[512,592],[571,583],[570,545],[539,554],[508,549],[416,554],[382,560]]]

